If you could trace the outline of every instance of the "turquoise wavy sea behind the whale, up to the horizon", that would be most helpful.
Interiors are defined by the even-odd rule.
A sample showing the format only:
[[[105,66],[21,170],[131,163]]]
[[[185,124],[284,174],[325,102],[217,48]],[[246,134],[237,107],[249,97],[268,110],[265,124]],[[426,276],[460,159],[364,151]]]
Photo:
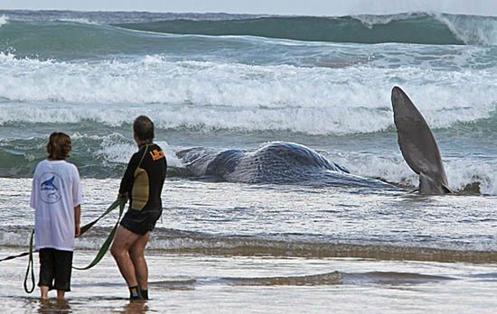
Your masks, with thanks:
[[[402,161],[393,126],[389,92],[398,85],[434,129],[451,189],[497,193],[493,18],[50,11],[0,16],[2,176],[31,176],[46,136],[63,129],[74,139],[73,161],[84,177],[117,178],[134,150],[130,122],[145,114],[154,118],[170,164],[179,165],[175,152],[192,146],[256,149],[289,141],[317,149],[355,174],[414,189],[417,177]],[[287,23],[324,32],[321,23],[333,29],[338,23],[353,28],[343,31],[351,35],[399,32],[404,40],[315,42],[248,32],[252,23],[264,29],[269,22],[275,24],[271,32],[289,32]],[[216,35],[205,35],[207,26],[192,33],[188,25],[198,23],[212,24]],[[232,23],[241,25],[236,34],[228,32]],[[399,23],[444,30],[452,37],[435,37],[458,44],[414,43],[420,41]]]

